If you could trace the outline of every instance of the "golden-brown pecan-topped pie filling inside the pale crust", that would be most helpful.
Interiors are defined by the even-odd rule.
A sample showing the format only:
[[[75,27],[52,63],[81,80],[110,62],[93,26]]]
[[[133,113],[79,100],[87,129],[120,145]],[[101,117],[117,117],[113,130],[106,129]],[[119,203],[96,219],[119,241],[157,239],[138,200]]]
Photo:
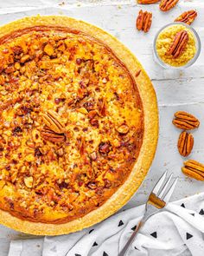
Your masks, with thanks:
[[[0,38],[0,208],[64,223],[100,207],[131,173],[143,105],[105,43],[32,27]]]

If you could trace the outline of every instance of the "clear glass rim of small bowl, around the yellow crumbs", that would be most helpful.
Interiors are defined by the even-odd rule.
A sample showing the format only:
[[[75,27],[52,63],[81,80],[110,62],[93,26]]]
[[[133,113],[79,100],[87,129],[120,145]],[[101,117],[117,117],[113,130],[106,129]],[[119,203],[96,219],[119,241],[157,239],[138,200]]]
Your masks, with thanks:
[[[189,62],[187,62],[185,65],[179,66],[179,67],[171,66],[168,63],[163,62],[163,60],[160,58],[160,56],[158,56],[157,51],[156,51],[156,40],[157,40],[157,37],[159,36],[159,34],[164,29],[166,29],[168,27],[171,27],[173,25],[176,25],[176,24],[182,24],[183,26],[188,28],[188,30],[191,31],[192,35],[194,36],[194,42],[195,42],[195,47],[196,47],[196,53],[194,54],[194,57]],[[155,39],[154,39],[153,51],[154,51],[154,60],[160,66],[162,66],[164,69],[186,69],[189,66],[193,65],[194,62],[197,60],[198,56],[200,55],[200,53],[201,53],[201,39],[200,39],[198,33],[192,27],[190,27],[188,24],[186,24],[186,23],[177,23],[177,22],[169,23],[169,24],[163,26],[163,28],[156,33],[156,36],[155,36]]]

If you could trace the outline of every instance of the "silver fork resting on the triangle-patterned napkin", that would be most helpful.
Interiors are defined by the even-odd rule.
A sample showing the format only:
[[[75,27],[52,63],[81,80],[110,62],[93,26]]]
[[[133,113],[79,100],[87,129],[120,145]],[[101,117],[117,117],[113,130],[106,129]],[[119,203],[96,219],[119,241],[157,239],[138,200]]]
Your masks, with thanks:
[[[124,256],[127,253],[129,246],[131,246],[133,240],[137,236],[139,229],[141,228],[141,226],[143,226],[145,221],[148,220],[152,215],[163,209],[163,207],[165,207],[165,205],[169,202],[171,194],[173,194],[175,190],[176,182],[178,181],[178,178],[176,178],[175,181],[173,181],[173,183],[169,186],[172,175],[173,174],[170,174],[169,179],[167,179],[167,181],[165,182],[167,176],[167,172],[165,172],[156,183],[156,186],[152,189],[149,199],[146,202],[145,213],[143,214],[142,220],[140,220],[136,230],[131,234],[131,238],[127,241],[118,256]]]

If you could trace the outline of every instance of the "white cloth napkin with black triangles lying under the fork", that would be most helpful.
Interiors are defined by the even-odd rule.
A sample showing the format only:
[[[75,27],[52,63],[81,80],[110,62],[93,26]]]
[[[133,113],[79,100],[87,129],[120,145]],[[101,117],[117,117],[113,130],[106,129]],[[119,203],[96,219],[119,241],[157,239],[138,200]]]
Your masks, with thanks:
[[[144,205],[124,210],[78,233],[45,237],[41,250],[36,250],[40,240],[14,240],[9,256],[117,256],[143,212]],[[127,255],[203,256],[203,233],[204,193],[169,203],[163,212],[152,216]]]

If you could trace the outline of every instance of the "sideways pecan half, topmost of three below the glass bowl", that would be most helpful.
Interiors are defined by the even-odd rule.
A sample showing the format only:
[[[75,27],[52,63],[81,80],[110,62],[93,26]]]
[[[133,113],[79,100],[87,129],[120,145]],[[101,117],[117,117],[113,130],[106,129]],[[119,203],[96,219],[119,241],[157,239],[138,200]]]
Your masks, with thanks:
[[[200,121],[194,115],[188,114],[184,111],[175,112],[175,119],[172,123],[177,128],[181,128],[184,130],[192,130],[194,128],[198,128],[200,125]]]

